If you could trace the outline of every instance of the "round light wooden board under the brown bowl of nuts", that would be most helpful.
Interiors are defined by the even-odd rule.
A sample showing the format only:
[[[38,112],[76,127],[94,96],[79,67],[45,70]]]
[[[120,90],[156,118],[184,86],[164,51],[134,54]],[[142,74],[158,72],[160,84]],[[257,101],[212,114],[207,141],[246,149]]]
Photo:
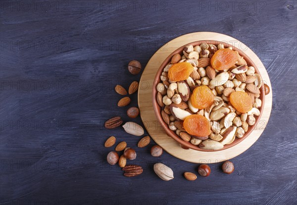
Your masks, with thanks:
[[[269,86],[271,89],[271,83],[269,80],[268,73],[261,62],[261,60],[257,57],[257,55],[251,51],[245,44],[240,42],[237,39],[234,39],[230,36],[213,33],[213,32],[197,32],[190,33],[183,36],[180,36],[172,41],[166,43],[163,47],[161,47],[158,51],[156,51],[153,56],[148,61],[147,66],[144,69],[144,72],[141,76],[139,83],[139,91],[138,91],[138,105],[141,113],[142,121],[151,136],[151,138],[161,146],[166,152],[169,154],[193,163],[216,163],[220,161],[224,161],[227,159],[231,159],[239,154],[245,152],[252,144],[254,144],[257,139],[262,134],[265,129],[271,108],[272,108],[272,90],[265,97],[264,111],[259,120],[258,124],[255,126],[255,130],[241,143],[235,145],[232,148],[218,151],[218,152],[201,152],[196,150],[185,150],[182,149],[175,140],[171,137],[167,136],[161,125],[158,123],[155,113],[152,107],[152,88],[153,88],[153,80],[156,74],[156,71],[160,67],[161,63],[165,60],[165,58],[170,55],[173,51],[182,47],[183,45],[189,44],[195,41],[203,41],[203,40],[215,40],[228,43],[233,45],[242,51],[244,51],[252,61],[257,65],[260,74],[263,78],[263,81]]]

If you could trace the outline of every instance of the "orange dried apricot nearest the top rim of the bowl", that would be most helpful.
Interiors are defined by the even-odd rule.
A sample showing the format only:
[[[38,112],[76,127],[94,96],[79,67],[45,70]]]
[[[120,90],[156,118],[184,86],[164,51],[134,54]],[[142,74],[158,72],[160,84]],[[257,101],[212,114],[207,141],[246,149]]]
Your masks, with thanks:
[[[211,60],[211,66],[217,70],[225,70],[231,68],[238,60],[238,55],[230,49],[220,49],[216,51]]]

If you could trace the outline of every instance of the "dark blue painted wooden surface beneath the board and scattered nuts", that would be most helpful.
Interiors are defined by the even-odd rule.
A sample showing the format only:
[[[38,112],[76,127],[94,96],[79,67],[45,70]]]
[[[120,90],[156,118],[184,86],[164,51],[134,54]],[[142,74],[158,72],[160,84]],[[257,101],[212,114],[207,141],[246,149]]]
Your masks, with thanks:
[[[296,0],[1,0],[0,204],[2,205],[292,205],[297,203]],[[247,44],[265,65],[273,90],[269,123],[259,140],[223,174],[211,164],[194,182],[197,164],[104,121],[117,107],[117,84],[128,88],[151,55],[183,34],[212,31]],[[137,105],[137,94],[131,105]],[[142,123],[140,117],[135,120]],[[144,173],[122,176],[106,162],[109,136],[136,148]],[[163,162],[175,179],[160,180]]]

